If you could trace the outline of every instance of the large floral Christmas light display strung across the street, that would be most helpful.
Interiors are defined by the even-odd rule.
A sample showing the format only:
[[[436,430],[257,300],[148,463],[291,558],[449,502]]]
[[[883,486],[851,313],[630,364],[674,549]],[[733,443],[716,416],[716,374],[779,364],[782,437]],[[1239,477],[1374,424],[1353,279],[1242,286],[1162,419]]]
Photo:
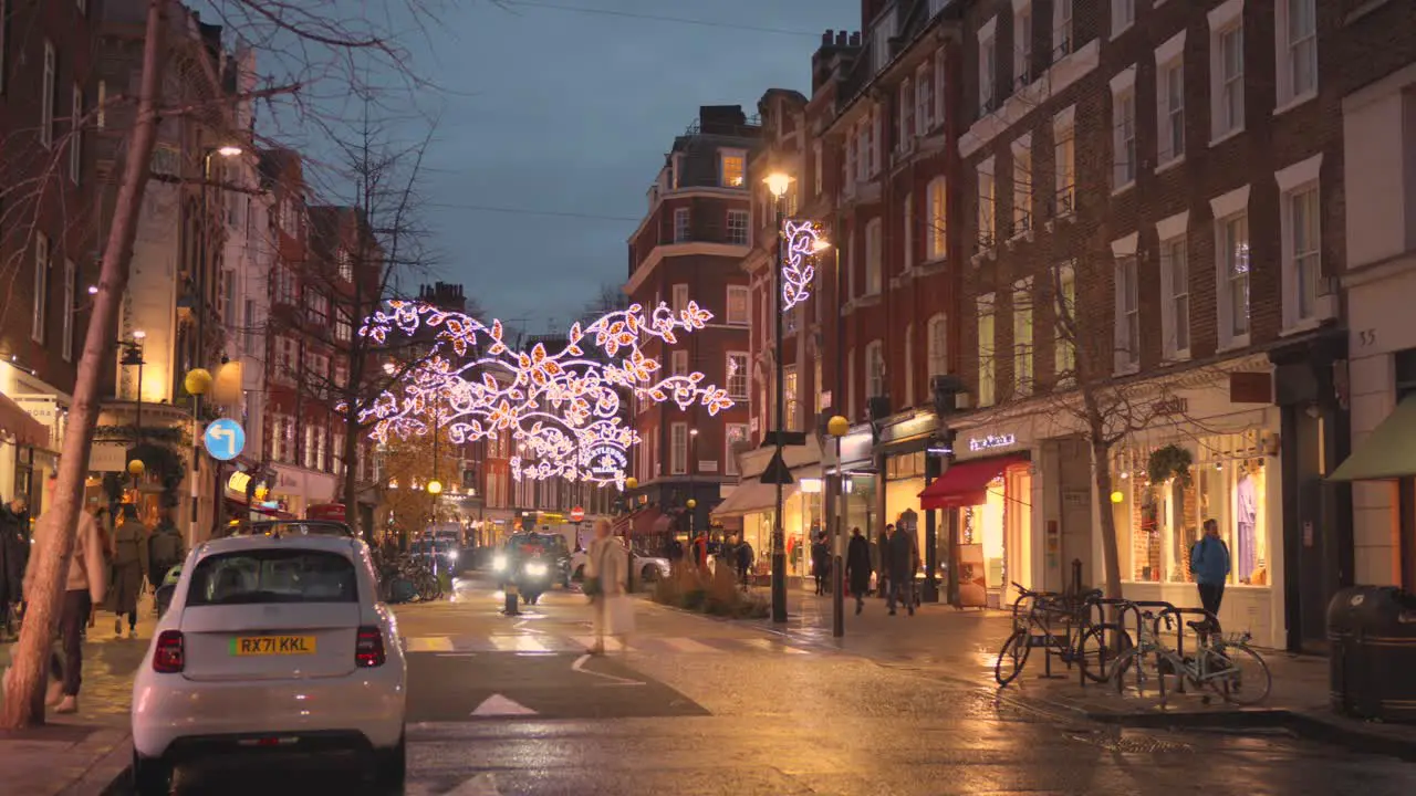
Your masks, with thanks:
[[[435,425],[457,443],[510,435],[518,480],[564,477],[623,489],[624,452],[639,442],[619,416],[624,391],[681,409],[700,404],[709,415],[733,405],[728,391],[705,384],[701,373],[660,378],[660,363],[640,350],[649,337],[673,344],[711,319],[692,302],[680,312],[660,303],[647,314],[633,305],[589,326],[576,323],[561,351],[541,343],[517,351],[500,320],[486,326],[430,305],[389,302],[360,334],[375,343],[392,334],[428,334],[432,351],[405,374],[396,392],[384,392],[360,419],[372,421],[370,433],[379,442],[423,435]],[[586,346],[603,357],[588,357]],[[433,411],[436,423],[429,422]]]

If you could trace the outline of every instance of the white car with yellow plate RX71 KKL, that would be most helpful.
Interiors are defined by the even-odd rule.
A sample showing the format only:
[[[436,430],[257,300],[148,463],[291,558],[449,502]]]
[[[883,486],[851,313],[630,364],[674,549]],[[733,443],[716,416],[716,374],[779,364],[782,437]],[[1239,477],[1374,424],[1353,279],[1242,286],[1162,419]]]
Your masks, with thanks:
[[[139,793],[167,793],[176,766],[211,755],[331,751],[401,792],[398,625],[368,547],[312,528],[278,523],[188,554],[133,681]]]

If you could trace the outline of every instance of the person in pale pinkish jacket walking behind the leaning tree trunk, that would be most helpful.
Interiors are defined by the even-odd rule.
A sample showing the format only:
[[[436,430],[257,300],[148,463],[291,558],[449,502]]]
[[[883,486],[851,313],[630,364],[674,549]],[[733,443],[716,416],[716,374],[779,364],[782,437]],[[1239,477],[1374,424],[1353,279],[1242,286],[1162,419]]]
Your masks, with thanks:
[[[50,477],[45,482],[45,506],[54,506],[54,487],[58,479]],[[54,527],[54,513],[45,511],[34,525],[34,545],[51,544],[59,530]],[[34,588],[35,567],[40,555],[31,555],[30,564],[24,569],[24,591],[28,595]],[[55,693],[51,688],[47,703],[54,705],[54,712],[78,712],[79,686],[84,681],[84,644],[82,630],[93,606],[103,602],[108,592],[108,565],[103,557],[103,542],[98,534],[98,524],[88,511],[79,511],[78,530],[74,535],[74,554],[69,558],[69,571],[64,582],[64,603],[59,606],[59,637],[64,649],[64,684]]]

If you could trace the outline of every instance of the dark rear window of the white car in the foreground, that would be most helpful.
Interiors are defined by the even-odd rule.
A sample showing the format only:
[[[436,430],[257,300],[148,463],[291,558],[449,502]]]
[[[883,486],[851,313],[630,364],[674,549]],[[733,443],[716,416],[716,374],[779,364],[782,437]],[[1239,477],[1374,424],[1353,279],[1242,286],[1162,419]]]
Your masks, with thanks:
[[[202,558],[187,605],[357,602],[354,562],[320,550],[252,550]]]

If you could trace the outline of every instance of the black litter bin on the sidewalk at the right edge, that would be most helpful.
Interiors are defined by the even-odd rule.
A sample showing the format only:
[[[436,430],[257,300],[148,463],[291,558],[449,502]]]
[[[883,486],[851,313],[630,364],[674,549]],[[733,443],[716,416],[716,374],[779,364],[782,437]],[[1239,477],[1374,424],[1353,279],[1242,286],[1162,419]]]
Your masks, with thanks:
[[[1352,586],[1328,603],[1334,710],[1358,718],[1416,721],[1416,595]]]

